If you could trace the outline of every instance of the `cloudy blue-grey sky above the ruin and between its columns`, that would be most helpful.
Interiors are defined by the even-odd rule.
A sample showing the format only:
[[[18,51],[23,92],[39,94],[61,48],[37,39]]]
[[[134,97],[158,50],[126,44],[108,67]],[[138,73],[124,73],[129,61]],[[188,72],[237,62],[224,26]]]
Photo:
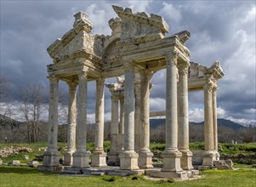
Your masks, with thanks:
[[[225,77],[219,80],[218,117],[255,123],[255,1],[4,1],[1,0],[1,75],[19,93],[20,87],[40,82],[48,94],[46,48],[72,28],[73,14],[82,11],[94,24],[93,34],[110,35],[108,20],[117,17],[115,4],[134,12],[162,15],[168,36],[189,30],[186,45],[191,61],[210,66],[219,60]],[[113,82],[110,79],[106,82]],[[152,81],[151,111],[165,110],[165,71]],[[61,88],[66,88],[64,83]],[[95,83],[88,83],[88,120],[94,122]],[[161,89],[160,89],[161,88]],[[159,92],[159,90],[163,90]],[[189,95],[190,121],[203,121],[203,93]],[[105,89],[105,119],[111,111]]]

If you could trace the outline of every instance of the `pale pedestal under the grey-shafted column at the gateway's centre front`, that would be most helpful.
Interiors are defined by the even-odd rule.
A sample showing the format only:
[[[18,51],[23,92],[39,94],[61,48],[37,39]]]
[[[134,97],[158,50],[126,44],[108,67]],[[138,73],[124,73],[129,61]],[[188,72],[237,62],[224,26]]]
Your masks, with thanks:
[[[138,167],[139,155],[134,150],[126,150],[119,155],[120,169],[122,170],[135,170]]]

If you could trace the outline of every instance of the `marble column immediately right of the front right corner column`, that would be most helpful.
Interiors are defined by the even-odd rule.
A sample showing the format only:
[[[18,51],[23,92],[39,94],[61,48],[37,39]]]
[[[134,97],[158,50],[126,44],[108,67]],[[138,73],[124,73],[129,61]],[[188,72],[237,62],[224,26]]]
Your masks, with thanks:
[[[189,62],[179,63],[178,82],[178,148],[182,153],[180,165],[182,169],[191,170],[192,152],[189,143],[189,104],[188,104],[188,71]]]

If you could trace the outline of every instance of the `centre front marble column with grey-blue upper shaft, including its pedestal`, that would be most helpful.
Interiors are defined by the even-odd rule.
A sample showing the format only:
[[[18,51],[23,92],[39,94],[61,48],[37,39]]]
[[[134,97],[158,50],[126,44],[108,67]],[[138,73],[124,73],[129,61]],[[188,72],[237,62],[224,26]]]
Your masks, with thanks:
[[[138,154],[134,151],[134,65],[124,65],[124,151],[119,155],[120,169],[138,167]]]

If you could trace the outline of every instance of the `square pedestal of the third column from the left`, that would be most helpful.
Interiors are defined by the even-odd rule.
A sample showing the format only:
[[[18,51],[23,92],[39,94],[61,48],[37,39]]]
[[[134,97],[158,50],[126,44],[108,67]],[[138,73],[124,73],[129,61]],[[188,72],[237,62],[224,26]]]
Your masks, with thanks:
[[[75,168],[90,167],[89,156],[90,156],[90,154],[88,153],[88,151],[77,150],[73,154],[72,167],[75,167]]]

